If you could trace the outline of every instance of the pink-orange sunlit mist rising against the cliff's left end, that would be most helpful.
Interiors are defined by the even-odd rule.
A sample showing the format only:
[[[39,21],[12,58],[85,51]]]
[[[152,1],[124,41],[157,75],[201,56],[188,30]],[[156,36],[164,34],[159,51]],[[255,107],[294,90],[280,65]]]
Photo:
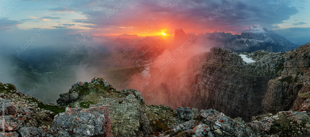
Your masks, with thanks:
[[[128,88],[139,90],[147,105],[164,104],[173,109],[176,109],[175,106],[184,106],[178,100],[170,100],[169,96],[172,93],[168,93],[169,89],[177,89],[178,85],[190,82],[187,78],[178,76],[186,75],[184,73],[187,72],[185,70],[188,69],[188,61],[193,56],[208,52],[212,48],[205,43],[206,41],[198,42],[195,38],[196,35],[190,34],[175,36],[174,42],[166,45],[166,50],[160,52],[156,58],[149,58],[148,63],[143,66],[143,71],[131,77]],[[180,92],[179,95],[180,98],[185,98],[186,93]]]

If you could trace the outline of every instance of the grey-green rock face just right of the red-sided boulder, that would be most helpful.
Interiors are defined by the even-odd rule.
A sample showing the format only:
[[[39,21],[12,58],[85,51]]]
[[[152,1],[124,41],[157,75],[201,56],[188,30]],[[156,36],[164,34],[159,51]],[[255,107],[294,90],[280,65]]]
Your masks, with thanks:
[[[109,106],[112,133],[114,136],[146,137],[151,133],[150,123],[142,110],[144,102],[139,91],[123,90],[129,93],[126,98],[104,98],[97,105]],[[135,93],[135,94],[134,94]],[[91,106],[97,106],[91,105]]]

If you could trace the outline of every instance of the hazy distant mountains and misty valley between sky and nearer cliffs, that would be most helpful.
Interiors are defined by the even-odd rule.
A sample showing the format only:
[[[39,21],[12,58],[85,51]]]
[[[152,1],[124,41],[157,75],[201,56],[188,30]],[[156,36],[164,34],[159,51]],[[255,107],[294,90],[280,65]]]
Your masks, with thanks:
[[[0,80],[15,83],[22,92],[32,93],[46,103],[55,102],[55,92],[59,94],[66,91],[60,87],[69,88],[69,83],[86,81],[96,76],[105,77],[117,88],[132,87],[141,91],[150,88],[150,91],[153,91],[157,89],[153,89],[154,87],[168,81],[159,72],[166,72],[168,77],[178,75],[187,67],[187,60],[198,53],[209,51],[212,47],[227,48],[233,52],[255,52],[259,49],[267,50],[268,47],[272,47],[273,52],[279,52],[288,46],[297,47],[284,37],[258,25],[250,26],[241,35],[224,32],[194,35],[176,29],[172,43],[155,38],[141,39],[137,35],[129,34],[94,36],[83,32],[68,35],[61,39],[58,45],[29,48],[18,58],[14,55],[2,57],[1,62],[4,65],[0,70]],[[136,39],[138,44],[133,47]],[[84,44],[81,44],[81,41]],[[81,46],[77,46],[77,43]],[[74,54],[70,53],[72,50]],[[174,57],[172,53],[177,53],[177,56]],[[15,65],[21,69],[12,69],[17,68]],[[153,80],[145,80],[145,77],[154,76],[156,78]],[[14,80],[10,81],[9,77]],[[13,77],[25,77],[27,80]],[[159,80],[156,81],[157,78]],[[143,82],[137,84],[133,79]],[[161,81],[163,79],[164,81]],[[146,88],[147,83],[154,86]],[[42,86],[33,90],[36,85]],[[47,96],[52,98],[47,99]]]

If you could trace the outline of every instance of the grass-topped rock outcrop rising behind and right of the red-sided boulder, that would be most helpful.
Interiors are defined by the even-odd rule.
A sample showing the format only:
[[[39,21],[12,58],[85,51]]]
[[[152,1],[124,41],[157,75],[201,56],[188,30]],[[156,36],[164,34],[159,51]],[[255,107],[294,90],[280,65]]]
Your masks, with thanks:
[[[68,100],[68,96],[77,93],[77,99]],[[114,136],[145,137],[151,133],[150,123],[142,109],[144,99],[141,92],[135,89],[119,91],[106,80],[95,77],[89,83],[86,81],[73,84],[68,93],[60,96],[57,102],[61,106],[72,108],[108,106],[112,123],[111,133]]]

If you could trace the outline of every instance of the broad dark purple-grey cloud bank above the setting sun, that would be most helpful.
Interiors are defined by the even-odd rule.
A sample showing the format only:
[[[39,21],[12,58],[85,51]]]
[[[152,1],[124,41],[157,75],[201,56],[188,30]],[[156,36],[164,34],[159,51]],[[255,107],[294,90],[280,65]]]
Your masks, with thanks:
[[[128,0],[121,5],[120,1],[75,1],[70,6],[51,10],[81,12],[87,19],[74,19],[73,22],[94,24],[86,25],[91,28],[139,27],[150,22],[165,22],[175,27],[192,24],[191,27],[200,30],[212,27],[236,31],[252,24],[274,28],[273,24],[282,23],[298,12],[291,2],[287,0],[279,6],[276,0],[188,0],[178,3],[175,0]],[[107,14],[110,16],[106,17]]]

